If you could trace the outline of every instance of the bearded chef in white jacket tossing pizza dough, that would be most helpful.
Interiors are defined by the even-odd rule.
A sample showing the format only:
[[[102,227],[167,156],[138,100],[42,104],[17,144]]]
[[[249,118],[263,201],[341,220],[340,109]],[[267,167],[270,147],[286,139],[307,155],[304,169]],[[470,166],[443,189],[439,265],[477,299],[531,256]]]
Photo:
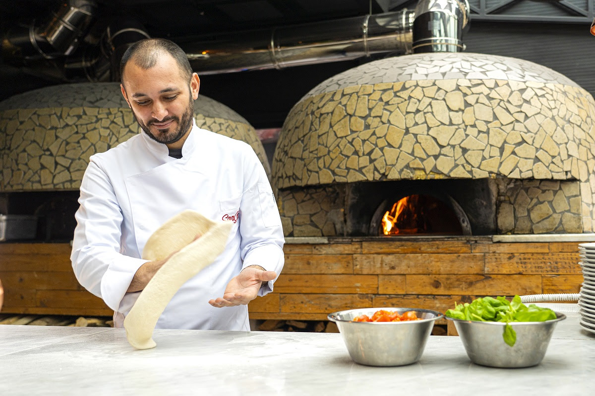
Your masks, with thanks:
[[[281,220],[262,164],[245,142],[195,125],[200,80],[173,42],[134,43],[120,75],[142,133],[90,157],[75,215],[77,279],[122,327],[167,261],[141,258],[147,239],[174,215],[196,210],[233,224],[226,248],[184,283],[156,328],[250,330],[247,304],[273,290],[284,262]]]

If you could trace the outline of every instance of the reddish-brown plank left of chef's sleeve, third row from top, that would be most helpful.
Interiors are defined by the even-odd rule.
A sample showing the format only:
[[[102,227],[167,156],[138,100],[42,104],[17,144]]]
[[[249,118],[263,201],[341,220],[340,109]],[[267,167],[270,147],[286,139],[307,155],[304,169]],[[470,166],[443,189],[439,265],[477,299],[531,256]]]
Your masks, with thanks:
[[[74,273],[67,272],[7,272],[0,271],[0,279],[7,289],[83,290]]]

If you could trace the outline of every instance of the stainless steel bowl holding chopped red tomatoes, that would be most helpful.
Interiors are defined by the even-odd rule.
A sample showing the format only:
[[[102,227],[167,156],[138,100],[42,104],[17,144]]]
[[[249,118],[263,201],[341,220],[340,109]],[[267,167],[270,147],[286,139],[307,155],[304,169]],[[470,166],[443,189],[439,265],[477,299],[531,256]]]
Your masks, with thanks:
[[[406,322],[352,322],[356,316],[372,316],[380,309],[397,311],[399,315],[414,311],[422,319]],[[336,322],[354,362],[368,366],[403,366],[419,360],[434,321],[442,317],[440,312],[429,309],[361,308],[331,313],[328,320]]]

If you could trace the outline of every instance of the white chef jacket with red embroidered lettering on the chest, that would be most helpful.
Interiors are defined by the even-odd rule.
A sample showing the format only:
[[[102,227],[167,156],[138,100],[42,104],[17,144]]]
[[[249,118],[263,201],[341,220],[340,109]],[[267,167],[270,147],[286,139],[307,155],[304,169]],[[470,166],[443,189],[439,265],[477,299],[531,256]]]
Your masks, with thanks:
[[[224,252],[188,280],[156,328],[250,330],[248,306],[214,308],[243,268],[281,273],[283,230],[267,175],[252,148],[193,125],[182,158],[141,133],[90,157],[80,187],[71,261],[77,280],[114,310],[122,327],[140,292],[126,293],[149,236],[186,209],[231,221]],[[274,281],[259,296],[273,290]]]

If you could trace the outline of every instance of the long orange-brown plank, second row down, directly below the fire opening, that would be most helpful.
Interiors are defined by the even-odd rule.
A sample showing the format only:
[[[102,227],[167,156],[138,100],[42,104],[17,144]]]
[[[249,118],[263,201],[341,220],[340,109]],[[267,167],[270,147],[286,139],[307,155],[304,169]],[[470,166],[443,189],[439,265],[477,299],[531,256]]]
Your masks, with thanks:
[[[481,274],[483,254],[353,255],[356,274]]]

